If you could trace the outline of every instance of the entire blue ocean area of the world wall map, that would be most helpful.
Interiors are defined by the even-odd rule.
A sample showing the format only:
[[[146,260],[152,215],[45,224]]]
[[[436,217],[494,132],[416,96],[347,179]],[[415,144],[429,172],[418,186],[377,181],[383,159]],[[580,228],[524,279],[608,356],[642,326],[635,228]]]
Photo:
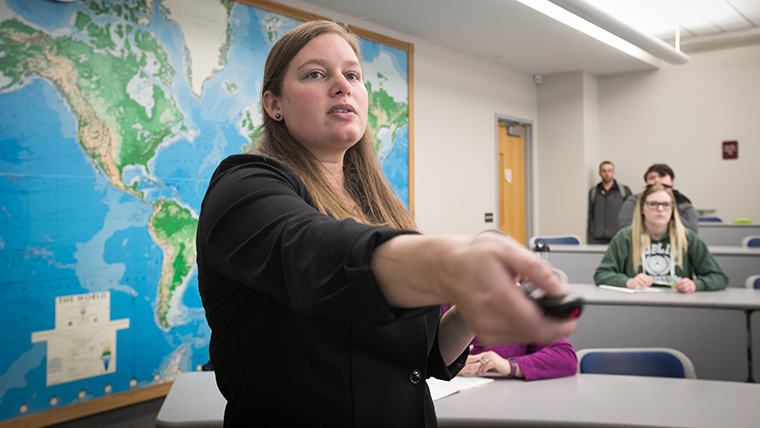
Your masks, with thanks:
[[[152,204],[170,200],[198,217],[213,171],[250,144],[242,125],[245,112],[253,125],[261,120],[260,82],[273,43],[264,22],[281,35],[299,21],[235,4],[228,17],[226,65],[204,82],[198,96],[188,78],[190,58],[180,26],[166,19],[160,1],[148,3],[151,13],[137,13],[140,24],[130,25],[148,31],[166,52],[175,73],[162,89],[183,120],[147,165],[128,165],[119,177],[127,186],[136,183],[142,199],[114,186],[85,152],[72,107],[53,82],[31,74],[0,92],[0,421],[155,385],[209,360],[210,330],[195,269],[171,301],[169,325],[162,327],[158,319],[164,254],[148,227]],[[0,0],[0,23],[15,14],[54,39],[90,43],[74,25],[77,12],[98,26],[126,24],[124,16],[95,12],[77,1]],[[381,52],[406,76],[405,51],[362,41],[365,62]],[[0,73],[0,87],[5,79]],[[383,162],[407,206],[408,129],[407,124],[394,128]],[[47,386],[48,345],[32,343],[32,334],[56,328],[57,297],[97,292],[110,293],[111,321],[129,321],[102,358],[115,372]]]

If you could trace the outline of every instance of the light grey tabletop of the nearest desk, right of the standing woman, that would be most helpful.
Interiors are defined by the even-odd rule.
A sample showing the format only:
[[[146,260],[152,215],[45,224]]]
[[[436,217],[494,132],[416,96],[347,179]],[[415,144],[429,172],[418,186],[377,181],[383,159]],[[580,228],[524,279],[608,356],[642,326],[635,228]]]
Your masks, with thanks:
[[[438,426],[757,427],[760,385],[579,374],[497,379],[435,402]]]

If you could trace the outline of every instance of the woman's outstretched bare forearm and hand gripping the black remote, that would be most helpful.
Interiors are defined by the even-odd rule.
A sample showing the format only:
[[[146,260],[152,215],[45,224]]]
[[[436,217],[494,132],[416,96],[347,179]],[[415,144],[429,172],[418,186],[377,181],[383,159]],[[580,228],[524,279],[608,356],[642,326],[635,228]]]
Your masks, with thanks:
[[[401,235],[375,249],[371,268],[391,306],[453,303],[485,346],[552,343],[575,329],[575,320],[545,316],[516,287],[525,275],[547,294],[564,289],[545,260],[505,235]]]

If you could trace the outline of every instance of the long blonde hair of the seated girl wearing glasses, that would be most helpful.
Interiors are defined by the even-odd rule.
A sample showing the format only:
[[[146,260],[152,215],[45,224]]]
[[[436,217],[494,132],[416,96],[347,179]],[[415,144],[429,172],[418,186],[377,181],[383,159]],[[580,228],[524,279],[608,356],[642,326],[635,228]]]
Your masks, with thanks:
[[[647,186],[644,193],[639,196],[639,200],[636,201],[633,224],[631,224],[631,256],[633,258],[633,270],[635,272],[638,272],[639,266],[641,265],[641,252],[652,243],[652,238],[649,236],[649,231],[647,230],[647,225],[644,221],[644,202],[646,202],[649,195],[656,192],[665,192],[670,195],[670,203],[673,204],[670,222],[668,222],[670,248],[671,251],[675,252],[676,263],[682,269],[683,255],[686,254],[689,249],[689,243],[686,240],[686,228],[683,226],[683,223],[681,223],[681,217],[678,214],[676,197],[673,194],[673,190],[659,183]],[[635,213],[638,213],[638,215]]]

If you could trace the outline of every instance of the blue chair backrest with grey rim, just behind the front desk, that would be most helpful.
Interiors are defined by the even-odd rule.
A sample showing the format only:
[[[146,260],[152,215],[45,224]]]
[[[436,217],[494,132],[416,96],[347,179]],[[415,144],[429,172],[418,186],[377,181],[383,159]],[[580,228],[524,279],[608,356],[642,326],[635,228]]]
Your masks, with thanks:
[[[592,348],[577,352],[578,372],[696,379],[689,357],[670,348]]]

